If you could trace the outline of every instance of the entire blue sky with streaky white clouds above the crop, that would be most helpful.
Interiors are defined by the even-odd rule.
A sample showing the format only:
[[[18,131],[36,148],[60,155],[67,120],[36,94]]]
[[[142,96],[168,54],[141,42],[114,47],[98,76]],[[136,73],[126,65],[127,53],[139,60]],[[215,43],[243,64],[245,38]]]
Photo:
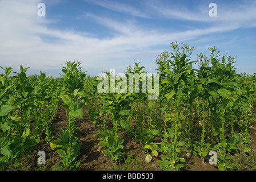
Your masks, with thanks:
[[[37,14],[41,2],[45,17]],[[209,16],[212,2],[217,17]],[[0,65],[22,64],[28,74],[59,77],[65,60],[81,61],[91,76],[139,61],[155,73],[155,60],[175,41],[195,47],[193,60],[215,46],[237,57],[238,73],[256,72],[254,0],[0,0],[0,22]]]

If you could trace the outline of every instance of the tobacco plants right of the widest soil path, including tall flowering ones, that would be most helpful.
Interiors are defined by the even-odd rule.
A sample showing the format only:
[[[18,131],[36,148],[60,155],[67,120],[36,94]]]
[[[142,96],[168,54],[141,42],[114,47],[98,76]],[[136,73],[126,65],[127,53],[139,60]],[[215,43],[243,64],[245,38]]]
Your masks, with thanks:
[[[235,155],[251,150],[248,138],[249,127],[255,124],[256,75],[238,75],[234,57],[219,55],[215,47],[209,48],[210,57],[200,53],[195,61],[190,58],[194,48],[181,47],[177,42],[171,47],[172,52],[161,53],[155,62],[160,77],[157,100],[148,100],[148,94],[142,92],[147,72],[139,63],[133,68],[129,65],[124,79],[137,73],[140,93],[95,92],[89,111],[94,113],[93,121],[104,118],[98,123],[97,134],[99,144],[105,146],[103,153],[113,163],[122,159],[121,134],[125,133],[142,144],[147,161],[161,156],[158,163],[163,170],[185,167],[185,155],[198,156],[202,163],[211,157],[220,170],[238,169]],[[113,77],[108,72],[106,75],[109,80]],[[116,76],[114,87],[123,81]],[[129,90],[128,81],[125,86]],[[107,128],[106,122],[112,127]],[[217,156],[211,156],[214,153]]]

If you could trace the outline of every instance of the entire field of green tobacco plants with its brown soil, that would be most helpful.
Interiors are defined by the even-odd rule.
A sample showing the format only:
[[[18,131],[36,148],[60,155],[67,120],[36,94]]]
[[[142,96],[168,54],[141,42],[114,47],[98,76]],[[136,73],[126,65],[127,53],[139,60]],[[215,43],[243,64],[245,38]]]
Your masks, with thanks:
[[[256,74],[237,74],[235,59],[215,47],[197,60],[193,51],[176,42],[159,55],[151,100],[139,63],[125,73],[139,75],[139,92],[105,72],[106,93],[79,61],[66,61],[59,78],[2,65],[0,169],[177,171],[199,159],[209,169],[255,170]]]

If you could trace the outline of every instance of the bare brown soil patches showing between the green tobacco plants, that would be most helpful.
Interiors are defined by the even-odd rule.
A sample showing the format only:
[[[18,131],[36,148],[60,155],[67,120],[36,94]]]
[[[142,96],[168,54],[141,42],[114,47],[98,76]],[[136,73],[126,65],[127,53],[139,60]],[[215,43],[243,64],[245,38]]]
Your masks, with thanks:
[[[102,151],[104,147],[98,145],[99,140],[95,137],[95,134],[98,133],[97,125],[94,125],[86,112],[83,119],[77,119],[76,126],[78,129],[76,130],[76,135],[79,137],[79,142],[82,143],[81,149],[79,152],[81,154],[78,155],[78,160],[82,160],[81,167],[79,170],[81,171],[111,171],[111,170],[129,170],[129,171],[159,171],[161,168],[157,163],[157,160],[161,159],[160,156],[157,158],[153,158],[150,163],[145,162],[146,154],[141,149],[138,143],[136,143],[133,139],[127,137],[126,135],[122,135],[125,142],[123,143],[125,156],[123,156],[123,160],[116,166],[111,163],[111,160],[104,156]],[[66,110],[60,106],[57,114],[55,115],[53,121],[51,122],[51,126],[53,126],[54,131],[53,135],[59,135],[61,133],[61,129],[66,128]],[[256,146],[256,128],[251,128],[250,138],[251,146]],[[60,161],[60,157],[57,154],[57,151],[52,151],[50,149],[50,143],[45,142],[45,140],[41,140],[39,146],[36,147],[36,150],[44,150],[46,151],[46,169],[51,170],[51,167],[54,166],[55,163]],[[129,158],[130,162],[126,163],[126,167],[124,167],[125,159]],[[182,168],[184,171],[217,171],[218,167],[214,165],[210,165],[208,160],[205,163],[202,163],[202,160],[196,156],[186,156],[183,158],[186,160],[187,166]],[[36,162],[34,162],[36,163]]]

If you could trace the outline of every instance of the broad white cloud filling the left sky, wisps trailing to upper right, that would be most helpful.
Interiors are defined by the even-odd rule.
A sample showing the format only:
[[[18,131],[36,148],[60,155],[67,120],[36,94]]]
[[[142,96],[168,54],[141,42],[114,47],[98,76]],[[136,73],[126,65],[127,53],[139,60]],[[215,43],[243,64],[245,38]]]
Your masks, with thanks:
[[[108,71],[110,68],[126,69],[128,63],[133,64],[136,59],[144,55],[146,59],[155,59],[159,53],[153,46],[167,45],[175,40],[193,40],[201,35],[213,34],[214,32],[230,31],[238,28],[240,24],[219,24],[207,28],[197,28],[180,32],[146,30],[133,20],[115,20],[102,18],[101,16],[86,13],[84,18],[95,20],[103,27],[113,31],[110,38],[95,38],[88,32],[67,31],[49,28],[54,23],[53,19],[37,16],[37,4],[35,0],[0,0],[0,65],[4,67],[16,67],[20,64],[33,69],[58,69],[64,65],[65,60],[82,61],[84,68],[97,71]],[[105,3],[103,3],[105,2]],[[125,11],[135,16],[149,17],[147,10],[139,11],[132,6],[123,4],[111,4],[107,1],[97,2],[115,11]],[[55,0],[58,3],[58,0]],[[47,4],[46,4],[47,5]],[[145,7],[146,8],[146,7]],[[148,8],[148,6],[147,6]],[[151,5],[157,14],[159,7]],[[161,7],[162,8],[162,7]],[[245,7],[241,7],[243,9]],[[47,6],[46,6],[47,9]],[[149,9],[149,10],[151,10]],[[160,9],[159,9],[160,10]],[[241,10],[242,11],[242,10]],[[176,13],[175,13],[176,12]],[[182,14],[182,11],[173,11],[176,16],[183,19],[198,19],[199,15],[190,16],[192,13]],[[248,11],[253,15],[253,7]],[[169,16],[168,14],[163,14]],[[246,17],[247,14],[243,14]],[[231,17],[231,16],[230,16]],[[241,18],[241,21],[245,20]],[[50,41],[49,41],[50,40]],[[162,50],[163,51],[163,50]],[[155,57],[153,54],[155,53]],[[152,58],[153,57],[153,58]],[[152,62],[142,65],[152,65]],[[89,70],[90,73],[90,70]],[[90,73],[93,74],[93,73]]]

